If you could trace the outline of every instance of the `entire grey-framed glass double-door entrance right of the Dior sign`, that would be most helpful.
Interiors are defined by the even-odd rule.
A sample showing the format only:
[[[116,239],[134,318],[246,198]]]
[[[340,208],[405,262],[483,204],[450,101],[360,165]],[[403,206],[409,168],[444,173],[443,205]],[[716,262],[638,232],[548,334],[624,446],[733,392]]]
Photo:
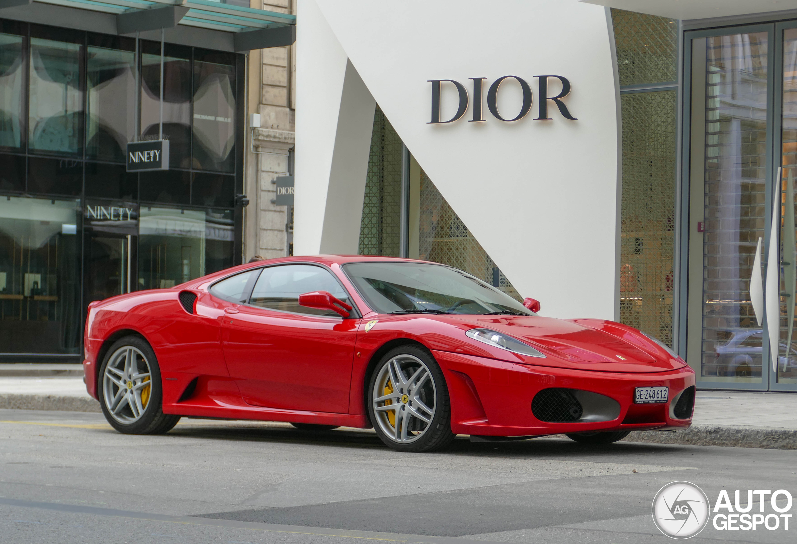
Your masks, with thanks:
[[[797,22],[685,38],[687,360],[698,386],[797,390]]]

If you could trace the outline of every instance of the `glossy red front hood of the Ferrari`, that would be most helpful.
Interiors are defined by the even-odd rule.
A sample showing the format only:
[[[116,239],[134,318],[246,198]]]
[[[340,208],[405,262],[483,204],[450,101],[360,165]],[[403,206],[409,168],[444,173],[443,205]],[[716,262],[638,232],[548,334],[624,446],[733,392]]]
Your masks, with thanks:
[[[603,319],[537,316],[469,316],[471,326],[503,332],[546,354],[530,364],[611,372],[660,372],[685,366],[639,331]],[[550,359],[550,360],[549,360]]]

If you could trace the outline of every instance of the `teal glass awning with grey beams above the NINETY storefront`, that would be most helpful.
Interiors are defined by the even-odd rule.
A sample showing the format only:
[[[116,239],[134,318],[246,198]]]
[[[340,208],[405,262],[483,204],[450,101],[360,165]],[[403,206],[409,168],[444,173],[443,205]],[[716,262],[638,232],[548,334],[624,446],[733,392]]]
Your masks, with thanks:
[[[29,0],[0,0],[0,7],[26,3],[29,4]],[[213,0],[36,0],[33,6],[36,4],[115,15],[120,34],[177,25],[230,33],[236,51],[290,45],[296,40],[296,15]]]

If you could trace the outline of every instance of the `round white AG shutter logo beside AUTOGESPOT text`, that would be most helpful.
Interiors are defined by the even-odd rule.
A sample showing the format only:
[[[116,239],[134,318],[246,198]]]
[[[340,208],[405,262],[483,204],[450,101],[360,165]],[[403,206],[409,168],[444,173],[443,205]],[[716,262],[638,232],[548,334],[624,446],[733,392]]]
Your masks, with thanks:
[[[709,522],[709,498],[689,482],[670,482],[653,499],[653,521],[670,538],[692,538]]]

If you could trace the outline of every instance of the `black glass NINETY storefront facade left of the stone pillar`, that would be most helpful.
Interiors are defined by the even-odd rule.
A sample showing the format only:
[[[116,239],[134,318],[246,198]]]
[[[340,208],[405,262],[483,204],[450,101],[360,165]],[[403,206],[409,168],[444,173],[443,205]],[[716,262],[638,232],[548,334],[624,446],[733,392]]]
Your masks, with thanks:
[[[292,42],[269,31],[295,21],[201,0],[86,4],[0,9],[6,361],[77,361],[92,300],[241,263],[247,53]],[[168,168],[128,172],[128,143],[159,139]]]

